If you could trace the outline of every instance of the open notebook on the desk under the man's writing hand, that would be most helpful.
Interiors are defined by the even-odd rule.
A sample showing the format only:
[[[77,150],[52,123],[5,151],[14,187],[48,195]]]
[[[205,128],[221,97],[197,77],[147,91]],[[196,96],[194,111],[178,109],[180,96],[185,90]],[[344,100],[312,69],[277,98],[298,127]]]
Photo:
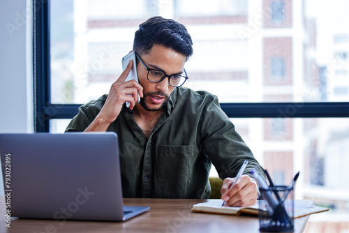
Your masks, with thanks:
[[[287,201],[288,200],[286,200],[286,202]],[[294,201],[295,201],[294,202],[295,218],[301,218],[312,213],[320,213],[320,212],[329,210],[322,206],[316,206],[315,204],[313,204],[313,200],[294,200]],[[240,215],[242,213],[258,215],[258,210],[259,210],[258,202],[253,206],[225,207],[225,206],[222,206],[223,201],[217,199],[217,200],[209,200],[208,202],[194,204],[191,210],[195,212],[222,213],[222,214],[230,214],[230,215]]]

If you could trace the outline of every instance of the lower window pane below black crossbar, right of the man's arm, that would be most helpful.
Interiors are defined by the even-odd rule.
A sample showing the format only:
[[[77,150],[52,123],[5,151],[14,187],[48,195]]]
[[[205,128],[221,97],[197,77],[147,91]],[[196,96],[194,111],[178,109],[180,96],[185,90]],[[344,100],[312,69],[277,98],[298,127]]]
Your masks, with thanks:
[[[311,216],[304,232],[349,230],[349,119],[232,122],[274,183],[288,185],[300,172],[295,198],[311,199],[330,209]],[[216,170],[210,175],[216,176]]]

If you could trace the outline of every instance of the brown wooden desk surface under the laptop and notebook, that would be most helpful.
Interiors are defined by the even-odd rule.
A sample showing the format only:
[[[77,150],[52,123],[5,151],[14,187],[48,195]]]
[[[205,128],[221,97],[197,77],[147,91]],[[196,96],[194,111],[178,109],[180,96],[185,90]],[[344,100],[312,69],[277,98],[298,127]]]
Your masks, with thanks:
[[[124,199],[124,205],[150,206],[150,211],[125,222],[91,222],[11,219],[6,227],[4,197],[0,197],[0,232],[259,232],[258,217],[193,213],[191,207],[205,200]],[[309,216],[295,220],[303,232]]]

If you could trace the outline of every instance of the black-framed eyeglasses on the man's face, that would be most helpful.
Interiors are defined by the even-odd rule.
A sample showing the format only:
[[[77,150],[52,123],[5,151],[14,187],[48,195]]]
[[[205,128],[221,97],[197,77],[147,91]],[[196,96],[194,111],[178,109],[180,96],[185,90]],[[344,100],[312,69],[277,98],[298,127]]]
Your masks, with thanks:
[[[138,56],[138,54],[135,54],[135,56],[137,56],[138,59],[140,59],[140,56]],[[142,61],[142,59],[140,59],[140,61],[148,70],[147,79],[150,82],[161,82],[165,79],[165,77],[168,77],[168,84],[170,84],[171,87],[181,87],[181,85],[183,85],[184,82],[188,80],[187,75],[166,75],[166,73],[163,72],[163,70],[151,69]],[[184,73],[186,74],[186,69],[184,69]]]

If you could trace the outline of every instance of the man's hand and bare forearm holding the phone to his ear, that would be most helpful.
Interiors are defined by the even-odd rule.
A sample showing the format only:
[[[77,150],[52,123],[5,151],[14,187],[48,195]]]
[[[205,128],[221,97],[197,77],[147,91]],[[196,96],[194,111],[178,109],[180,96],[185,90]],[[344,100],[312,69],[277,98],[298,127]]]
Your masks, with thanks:
[[[107,100],[105,100],[101,112],[99,112],[96,119],[84,131],[106,131],[110,123],[115,121],[117,116],[119,116],[124,103],[129,102],[130,109],[133,110],[138,100],[138,93],[141,98],[143,97],[143,87],[138,82],[135,80],[125,82],[132,66],[133,61],[131,60],[124,72],[121,73],[117,81],[110,87]]]

